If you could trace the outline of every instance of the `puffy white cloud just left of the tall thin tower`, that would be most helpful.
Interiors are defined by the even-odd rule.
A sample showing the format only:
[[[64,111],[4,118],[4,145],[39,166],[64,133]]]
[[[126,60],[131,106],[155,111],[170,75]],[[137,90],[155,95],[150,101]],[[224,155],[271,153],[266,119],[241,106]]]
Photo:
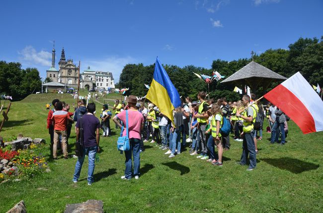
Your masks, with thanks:
[[[51,66],[52,54],[46,51],[37,52],[32,46],[26,46],[23,50],[18,51],[22,55],[21,59],[29,62],[31,65]]]

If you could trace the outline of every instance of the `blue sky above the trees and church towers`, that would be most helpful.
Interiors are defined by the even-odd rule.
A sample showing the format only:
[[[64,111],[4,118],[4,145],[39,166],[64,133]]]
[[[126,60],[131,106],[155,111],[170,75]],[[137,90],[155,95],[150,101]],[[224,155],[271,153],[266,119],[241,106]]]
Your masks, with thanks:
[[[323,36],[322,0],[6,0],[0,7],[0,60],[56,67],[62,47],[81,71],[127,63],[210,68],[215,59],[287,49],[298,38]]]

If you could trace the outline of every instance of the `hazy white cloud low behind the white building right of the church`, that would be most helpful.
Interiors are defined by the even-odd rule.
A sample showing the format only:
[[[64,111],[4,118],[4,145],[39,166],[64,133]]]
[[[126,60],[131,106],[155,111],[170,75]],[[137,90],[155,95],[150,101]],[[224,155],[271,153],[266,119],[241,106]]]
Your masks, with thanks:
[[[90,66],[91,70],[95,71],[112,72],[114,82],[116,83],[119,81],[123,67],[128,63],[137,63],[137,59],[131,56],[109,56],[101,60],[84,60],[81,61],[81,63],[83,64],[83,67],[81,67],[81,72],[87,69],[87,66]]]

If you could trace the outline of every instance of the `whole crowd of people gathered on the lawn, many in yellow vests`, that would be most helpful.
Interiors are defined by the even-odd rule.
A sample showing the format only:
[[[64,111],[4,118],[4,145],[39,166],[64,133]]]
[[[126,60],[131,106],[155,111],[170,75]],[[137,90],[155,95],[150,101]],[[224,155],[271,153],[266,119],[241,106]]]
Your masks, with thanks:
[[[168,158],[181,155],[183,148],[189,148],[189,155],[201,160],[207,160],[216,166],[223,166],[223,154],[230,150],[230,134],[223,131],[223,125],[230,123],[234,140],[242,142],[242,155],[240,164],[246,165],[247,170],[256,167],[257,140],[262,140],[264,118],[268,119],[271,132],[270,143],[284,145],[288,133],[289,120],[279,108],[274,105],[263,106],[254,102],[251,97],[244,95],[242,100],[228,102],[226,98],[217,101],[206,100],[206,93],[199,92],[197,101],[190,97],[182,99],[181,106],[173,110],[173,122],[163,115],[158,106],[153,103],[137,103],[136,96],[129,96],[127,104],[115,101],[112,111],[107,104],[101,109],[100,119],[95,117],[95,104],[80,100],[75,112],[69,112],[70,106],[58,99],[53,100],[53,109],[49,110],[47,128],[51,137],[51,155],[57,159],[57,150],[62,149],[64,159],[69,158],[68,139],[72,124],[76,122],[75,132],[77,140],[82,140],[83,153],[88,156],[88,184],[94,181],[95,155],[99,151],[100,129],[102,137],[111,136],[110,120],[114,121],[116,128],[126,125],[128,116],[128,129],[130,150],[125,151],[125,175],[122,179],[140,177],[140,153],[145,151],[144,143],[155,144]],[[146,107],[147,106],[147,107]],[[47,106],[46,106],[47,107]],[[73,117],[73,119],[72,119]],[[126,128],[123,128],[123,136]],[[151,140],[150,140],[151,138]],[[217,152],[216,152],[217,151]],[[85,154],[78,157],[75,166],[73,181],[76,183],[80,177],[81,166]]]

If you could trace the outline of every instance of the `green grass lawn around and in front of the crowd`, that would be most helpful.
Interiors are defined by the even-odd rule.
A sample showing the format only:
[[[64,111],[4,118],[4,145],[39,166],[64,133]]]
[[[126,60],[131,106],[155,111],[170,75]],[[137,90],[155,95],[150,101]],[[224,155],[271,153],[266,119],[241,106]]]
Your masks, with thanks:
[[[117,98],[110,95],[111,99]],[[49,142],[45,104],[56,97],[66,103],[75,102],[68,94],[37,94],[13,102],[9,121],[0,135],[6,139],[22,133]],[[100,108],[97,105],[97,111]],[[189,156],[188,148],[168,159],[164,151],[146,143],[146,151],[141,153],[140,179],[125,181],[120,179],[125,157],[116,149],[119,132],[112,131],[113,137],[100,139],[102,152],[91,186],[86,181],[87,163],[80,182],[75,184],[72,177],[76,159],[50,161],[50,173],[0,184],[0,212],[8,211],[20,200],[31,213],[64,212],[66,204],[88,199],[102,200],[105,212],[323,212],[322,132],[303,135],[289,121],[285,146],[269,145],[270,134],[264,132],[253,171],[236,164],[241,157],[241,142],[231,141],[223,167]],[[74,141],[72,131],[70,143]],[[70,146],[73,153],[74,144]],[[48,157],[49,150],[44,154]]]

